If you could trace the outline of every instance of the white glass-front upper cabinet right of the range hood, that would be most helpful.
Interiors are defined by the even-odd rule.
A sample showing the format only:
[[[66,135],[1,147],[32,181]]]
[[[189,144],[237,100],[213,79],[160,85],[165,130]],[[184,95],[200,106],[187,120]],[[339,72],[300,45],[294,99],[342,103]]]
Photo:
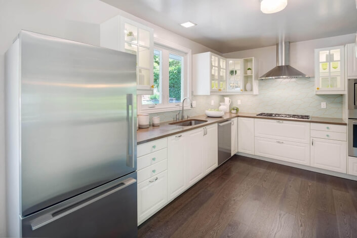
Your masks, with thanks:
[[[344,47],[315,49],[315,93],[345,94]]]

